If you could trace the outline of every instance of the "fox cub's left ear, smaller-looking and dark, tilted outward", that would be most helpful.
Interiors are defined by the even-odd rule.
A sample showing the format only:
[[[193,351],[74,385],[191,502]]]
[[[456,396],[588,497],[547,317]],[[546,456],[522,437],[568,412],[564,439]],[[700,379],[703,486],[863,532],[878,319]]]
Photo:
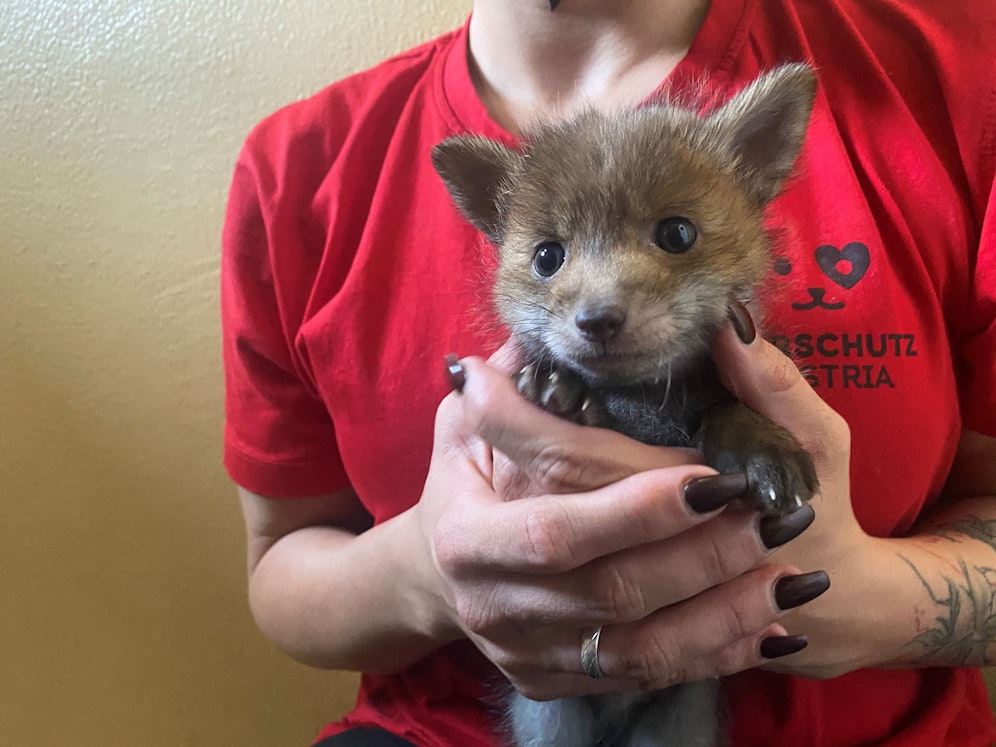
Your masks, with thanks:
[[[432,149],[432,165],[460,212],[495,244],[501,243],[509,183],[521,163],[514,150],[469,135]]]

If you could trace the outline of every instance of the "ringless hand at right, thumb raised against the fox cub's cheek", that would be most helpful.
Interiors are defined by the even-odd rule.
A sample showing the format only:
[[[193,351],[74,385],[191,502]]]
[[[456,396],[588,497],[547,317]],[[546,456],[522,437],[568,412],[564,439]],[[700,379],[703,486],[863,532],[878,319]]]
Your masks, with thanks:
[[[797,541],[772,559],[803,570],[821,568],[833,579],[819,600],[785,618],[809,646],[766,668],[806,677],[833,677],[874,660],[873,642],[853,635],[862,629],[866,605],[857,599],[869,568],[885,561],[888,550],[858,524],[850,497],[850,429],[773,345],[753,336],[749,317],[740,336],[727,327],[717,336],[714,355],[720,377],[741,402],[786,428],[812,456],[819,493],[812,499],[816,518]],[[750,342],[746,342],[750,340]]]

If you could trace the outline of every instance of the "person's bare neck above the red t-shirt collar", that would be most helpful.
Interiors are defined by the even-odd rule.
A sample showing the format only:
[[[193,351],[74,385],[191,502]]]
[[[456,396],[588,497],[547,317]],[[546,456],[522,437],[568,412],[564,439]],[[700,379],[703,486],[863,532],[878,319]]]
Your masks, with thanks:
[[[471,75],[491,116],[520,133],[579,106],[634,106],[688,51],[710,0],[477,0]]]

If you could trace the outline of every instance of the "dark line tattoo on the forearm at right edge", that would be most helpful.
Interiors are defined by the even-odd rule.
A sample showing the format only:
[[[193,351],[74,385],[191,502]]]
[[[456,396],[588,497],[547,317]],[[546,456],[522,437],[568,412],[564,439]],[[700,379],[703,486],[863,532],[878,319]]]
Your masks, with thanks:
[[[957,542],[970,538],[996,551],[996,519],[968,517],[945,526],[938,536]],[[899,556],[923,584],[935,610],[918,610],[917,636],[910,642],[922,649],[923,663],[990,666],[996,643],[996,567],[958,561],[934,587],[908,558]],[[922,614],[920,614],[922,612]],[[934,617],[931,619],[931,615]]]

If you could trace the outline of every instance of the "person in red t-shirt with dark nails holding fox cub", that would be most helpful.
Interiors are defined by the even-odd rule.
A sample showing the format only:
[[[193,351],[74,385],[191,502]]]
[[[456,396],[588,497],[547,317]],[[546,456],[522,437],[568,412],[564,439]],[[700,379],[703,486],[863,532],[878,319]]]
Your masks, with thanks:
[[[254,129],[224,233],[225,461],[260,628],[364,673],[324,742],[500,745],[510,688],[611,704],[716,677],[720,743],[996,741],[993,31],[981,0],[477,0]],[[785,63],[814,71],[811,113],[763,276],[707,344],[812,460],[808,504],[768,513],[746,472],[520,394],[529,351],[481,300],[507,226],[468,223],[431,154],[528,152],[585,109],[707,120]],[[738,132],[723,152],[754,169],[770,139]],[[592,179],[551,164],[563,207],[522,282],[552,289]],[[647,262],[689,273],[732,208],[672,182],[686,196],[634,220]],[[663,282],[602,261],[634,296]],[[571,333],[624,356],[639,314],[606,308]]]

